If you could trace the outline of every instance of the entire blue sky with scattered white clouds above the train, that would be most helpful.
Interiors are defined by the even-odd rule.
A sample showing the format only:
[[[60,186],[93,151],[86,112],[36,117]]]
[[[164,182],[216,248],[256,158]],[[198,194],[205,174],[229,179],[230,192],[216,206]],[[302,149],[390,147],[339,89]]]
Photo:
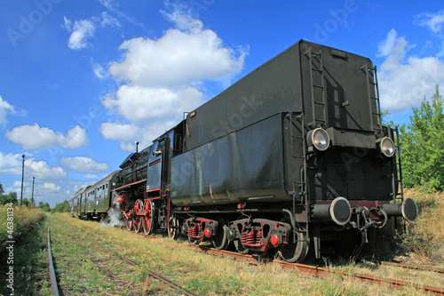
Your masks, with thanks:
[[[444,81],[441,1],[5,0],[0,182],[52,206],[299,39],[369,57],[397,124]]]

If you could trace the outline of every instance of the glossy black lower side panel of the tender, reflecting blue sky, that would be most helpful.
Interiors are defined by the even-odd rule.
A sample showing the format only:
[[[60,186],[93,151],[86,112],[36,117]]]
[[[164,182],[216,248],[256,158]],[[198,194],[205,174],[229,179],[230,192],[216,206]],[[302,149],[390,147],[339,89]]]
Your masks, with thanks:
[[[289,201],[281,114],[173,157],[170,178],[176,205]]]

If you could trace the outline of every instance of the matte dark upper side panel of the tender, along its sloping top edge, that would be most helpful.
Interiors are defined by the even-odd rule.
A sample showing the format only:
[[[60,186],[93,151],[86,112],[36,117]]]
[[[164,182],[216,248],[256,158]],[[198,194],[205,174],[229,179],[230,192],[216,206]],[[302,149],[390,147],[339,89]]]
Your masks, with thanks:
[[[193,149],[280,112],[301,112],[299,47],[274,59],[186,117],[186,148]]]

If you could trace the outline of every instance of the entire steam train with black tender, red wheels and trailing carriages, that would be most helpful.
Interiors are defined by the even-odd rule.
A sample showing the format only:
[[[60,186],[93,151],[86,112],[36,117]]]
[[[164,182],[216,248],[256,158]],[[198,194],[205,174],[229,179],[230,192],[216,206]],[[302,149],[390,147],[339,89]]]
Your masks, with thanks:
[[[381,122],[369,59],[301,40],[73,197],[73,212],[106,213],[87,194],[108,180],[102,204],[115,204],[128,229],[320,258],[321,242],[365,244],[390,217],[416,219],[396,133]]]

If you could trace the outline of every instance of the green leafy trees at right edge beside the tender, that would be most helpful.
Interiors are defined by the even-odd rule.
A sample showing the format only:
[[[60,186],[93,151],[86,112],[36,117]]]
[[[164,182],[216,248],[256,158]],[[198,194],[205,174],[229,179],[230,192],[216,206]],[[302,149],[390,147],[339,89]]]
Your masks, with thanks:
[[[404,185],[429,190],[444,189],[444,115],[440,89],[432,100],[424,97],[420,108],[413,108],[410,123],[400,127]]]

